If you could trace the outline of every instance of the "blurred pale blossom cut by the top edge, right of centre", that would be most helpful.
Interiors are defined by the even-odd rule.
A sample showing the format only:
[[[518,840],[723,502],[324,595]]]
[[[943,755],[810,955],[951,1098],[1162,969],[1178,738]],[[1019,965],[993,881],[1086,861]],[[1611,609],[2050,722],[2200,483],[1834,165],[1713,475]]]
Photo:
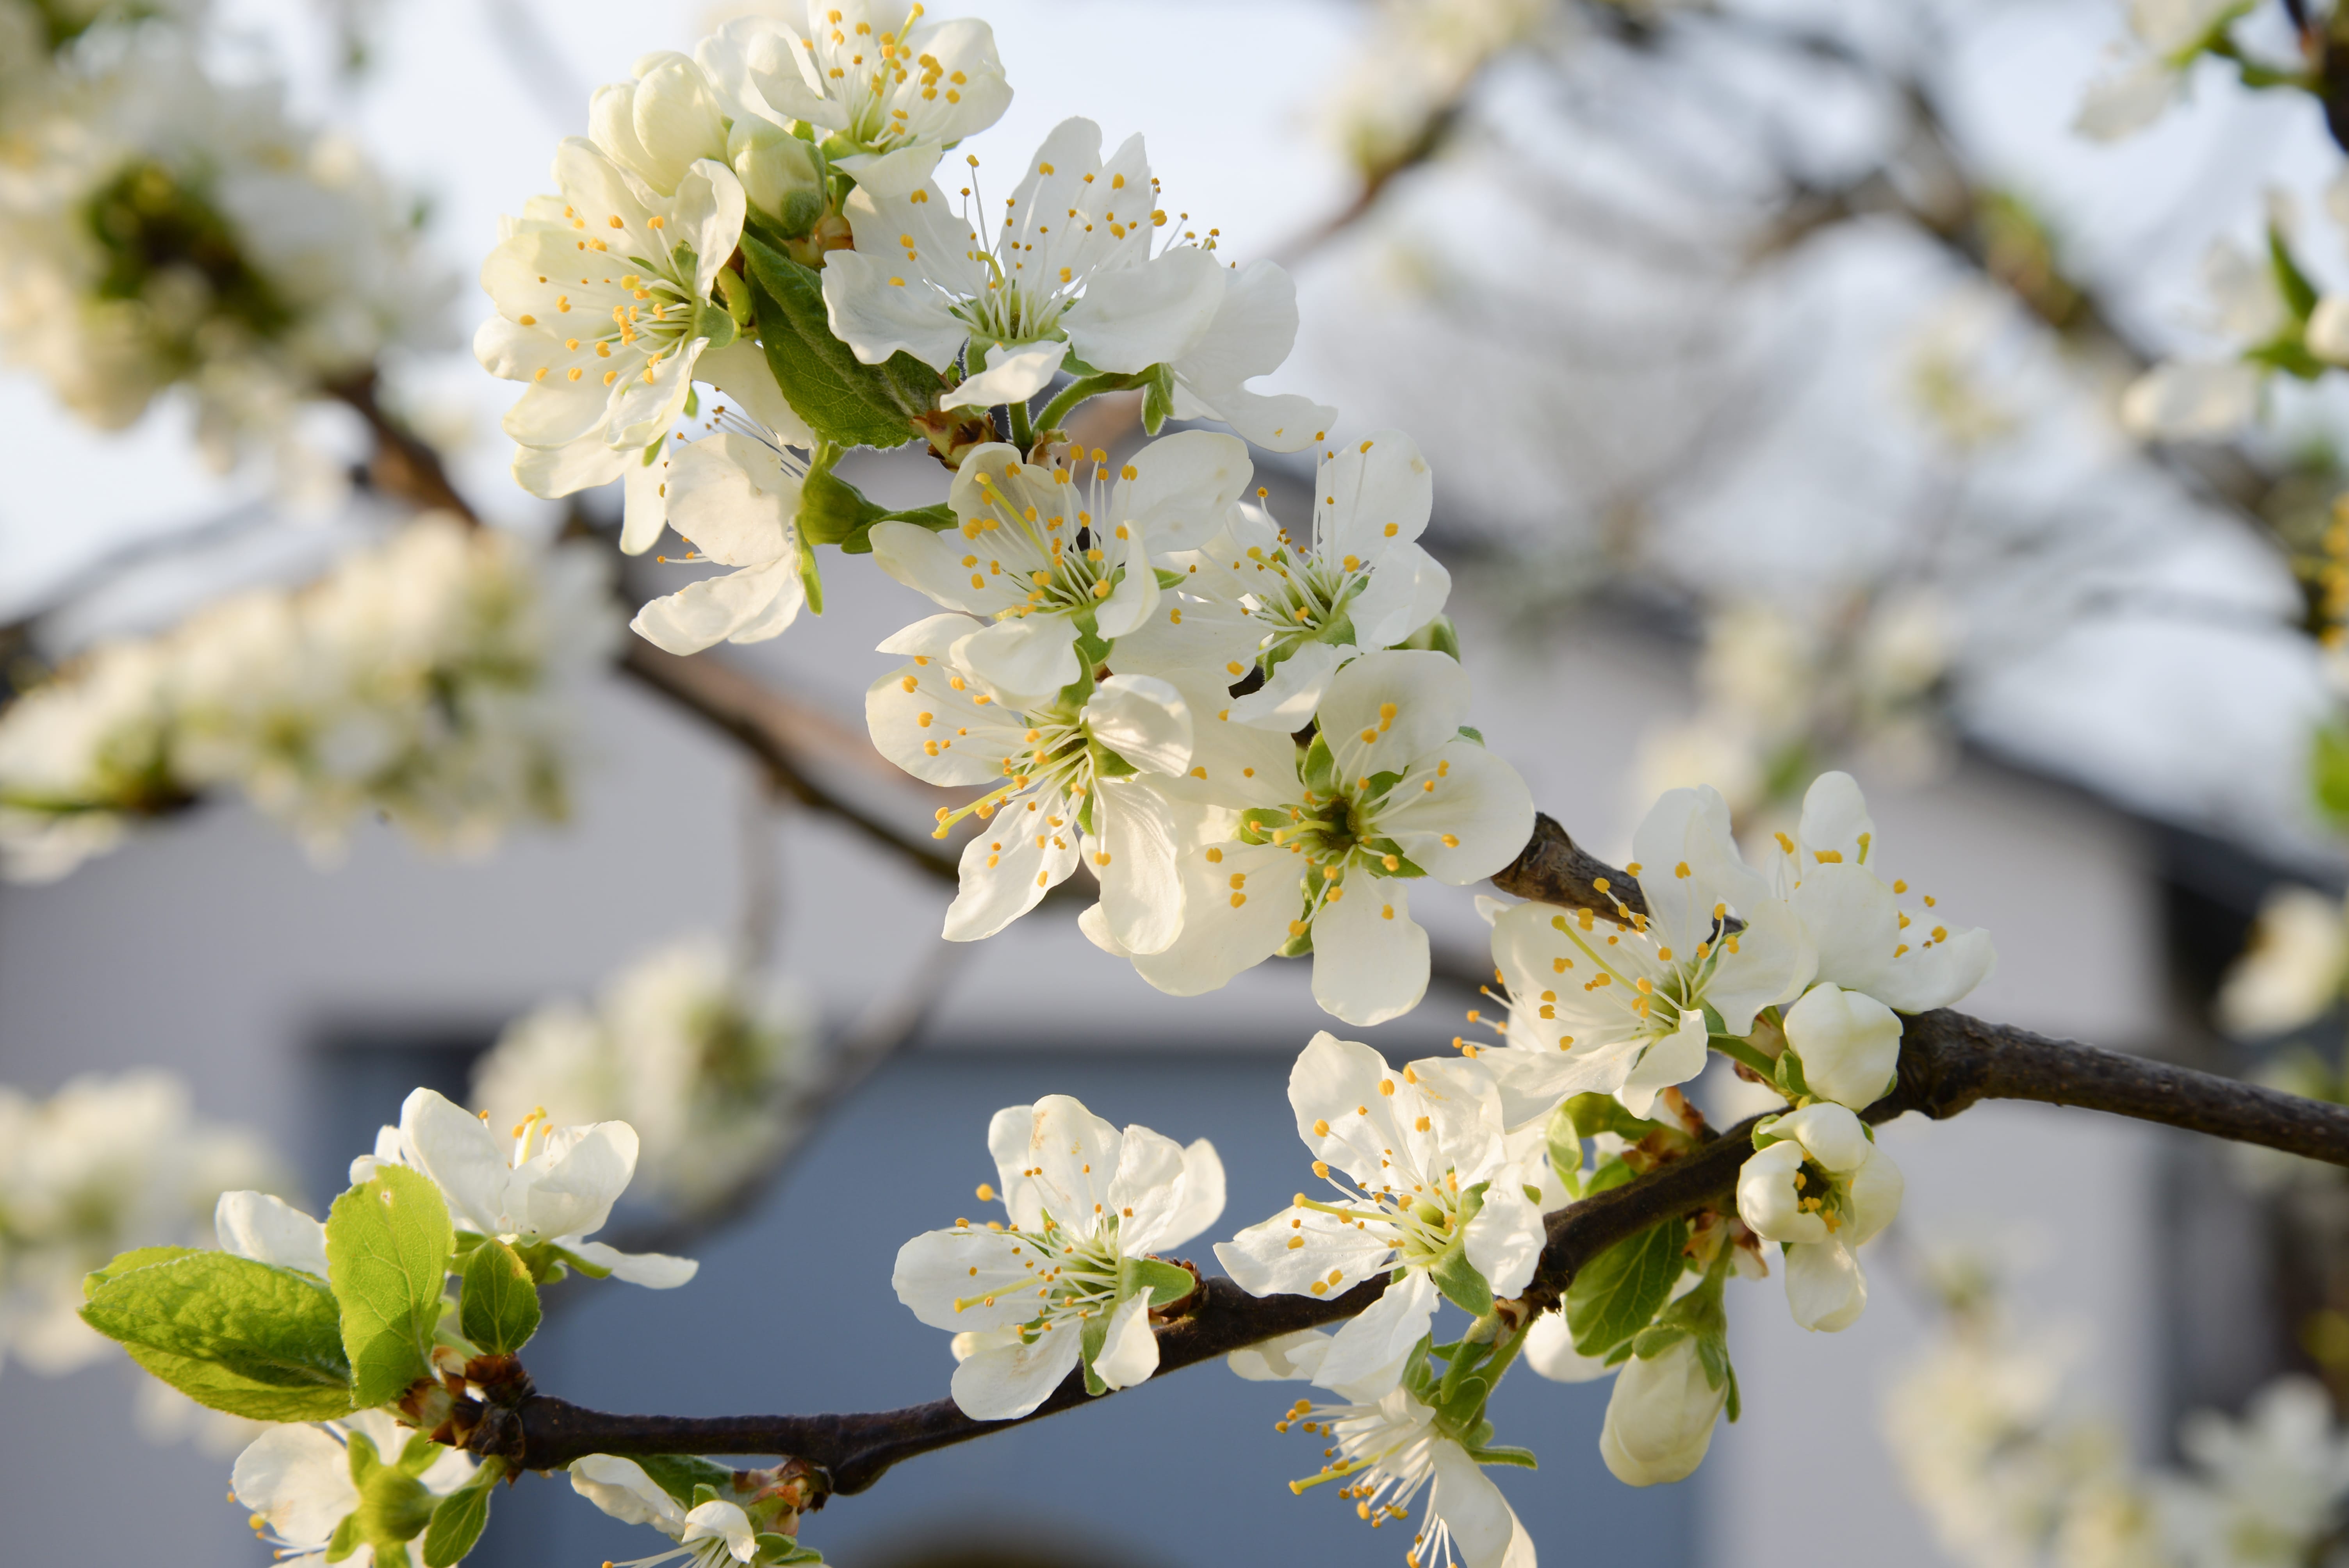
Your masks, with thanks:
[[[1423,155],[1485,66],[1555,31],[1560,12],[1557,0],[1381,0],[1322,110],[1332,141],[1365,181],[1393,174]]]

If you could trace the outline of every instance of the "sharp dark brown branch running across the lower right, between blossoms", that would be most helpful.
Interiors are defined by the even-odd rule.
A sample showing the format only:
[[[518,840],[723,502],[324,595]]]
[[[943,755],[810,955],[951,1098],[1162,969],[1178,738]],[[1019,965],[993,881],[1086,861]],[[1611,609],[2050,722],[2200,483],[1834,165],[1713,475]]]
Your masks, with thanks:
[[[1640,885],[1581,850],[1550,817],[1536,817],[1525,852],[1492,878],[1503,892],[1571,908],[1614,913],[1644,908]],[[1604,883],[1604,887],[1602,887]],[[2307,1101],[2210,1073],[2140,1056],[2048,1040],[1940,1009],[1907,1019],[1896,1089],[1870,1106],[1870,1122],[1910,1110],[1936,1120],[1985,1099],[2084,1106],[2239,1143],[2260,1143],[2349,1167],[2349,1106]],[[1752,1153],[1752,1120],[1738,1122],[1687,1157],[1548,1216],[1548,1244],[1525,1293],[1527,1305],[1555,1305],[1574,1272],[1604,1249],[1651,1225],[1722,1204]],[[1299,1329],[1315,1329],[1369,1307],[1384,1279],[1315,1300],[1254,1298],[1229,1279],[1203,1282],[1186,1317],[1158,1331],[1158,1371],[1170,1373]],[[817,1465],[836,1493],[857,1493],[890,1465],[1088,1404],[1083,1373],[1019,1420],[972,1420],[951,1399],[857,1415],[606,1415],[533,1394],[521,1406],[519,1453],[531,1469],[568,1465],[587,1453],[759,1453]]]

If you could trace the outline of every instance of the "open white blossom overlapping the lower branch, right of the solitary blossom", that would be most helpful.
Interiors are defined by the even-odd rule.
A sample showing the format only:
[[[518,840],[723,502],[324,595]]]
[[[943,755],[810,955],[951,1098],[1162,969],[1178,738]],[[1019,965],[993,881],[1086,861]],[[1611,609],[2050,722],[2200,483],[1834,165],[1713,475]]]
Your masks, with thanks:
[[[1541,1258],[1541,1209],[1501,1129],[1501,1099],[1473,1061],[1414,1061],[1327,1030],[1290,1070],[1297,1136],[1337,1202],[1297,1204],[1214,1249],[1250,1296],[1341,1296],[1400,1270],[1348,1319],[1313,1373],[1320,1387],[1379,1380],[1428,1333],[1440,1291],[1517,1296]],[[1466,1265],[1468,1277],[1461,1277]]]

